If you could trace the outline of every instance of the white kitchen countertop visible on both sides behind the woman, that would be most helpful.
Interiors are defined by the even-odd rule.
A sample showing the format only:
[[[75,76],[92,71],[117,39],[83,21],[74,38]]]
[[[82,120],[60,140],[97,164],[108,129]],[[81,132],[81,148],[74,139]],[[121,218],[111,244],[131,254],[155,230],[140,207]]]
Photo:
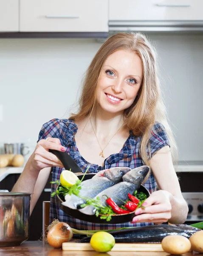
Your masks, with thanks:
[[[23,172],[24,167],[3,167],[0,168],[0,182],[9,174],[20,174]],[[203,164],[192,165],[178,165],[176,172],[203,172]]]

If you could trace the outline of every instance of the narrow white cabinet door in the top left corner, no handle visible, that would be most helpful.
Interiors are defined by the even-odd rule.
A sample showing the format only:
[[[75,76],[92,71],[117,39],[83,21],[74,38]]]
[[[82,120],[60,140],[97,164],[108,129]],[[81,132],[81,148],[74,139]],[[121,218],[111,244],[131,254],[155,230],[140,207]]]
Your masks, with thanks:
[[[19,0],[0,0],[0,32],[19,31]]]

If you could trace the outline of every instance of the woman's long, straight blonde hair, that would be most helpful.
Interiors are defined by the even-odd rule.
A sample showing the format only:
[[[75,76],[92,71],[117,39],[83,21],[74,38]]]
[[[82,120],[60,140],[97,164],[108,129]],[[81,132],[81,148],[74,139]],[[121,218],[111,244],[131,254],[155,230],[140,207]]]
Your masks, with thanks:
[[[133,131],[135,136],[141,136],[141,158],[146,165],[150,166],[150,157],[147,155],[146,148],[149,148],[150,132],[156,121],[161,122],[166,129],[172,156],[175,155],[176,145],[169,123],[167,122],[164,103],[161,99],[156,67],[156,51],[145,35],[141,33],[121,32],[105,41],[87,69],[79,99],[79,111],[76,114],[72,114],[70,119],[84,119],[93,111],[96,105],[96,91],[99,76],[104,62],[109,55],[119,49],[130,50],[141,59],[143,70],[142,84],[135,101],[124,111],[124,122],[127,128]]]

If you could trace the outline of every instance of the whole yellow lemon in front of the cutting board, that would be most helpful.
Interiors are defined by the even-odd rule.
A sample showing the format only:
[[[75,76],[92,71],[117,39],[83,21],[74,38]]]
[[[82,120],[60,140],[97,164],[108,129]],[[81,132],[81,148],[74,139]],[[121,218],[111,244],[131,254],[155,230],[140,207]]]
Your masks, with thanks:
[[[115,239],[111,234],[105,231],[99,231],[91,237],[90,245],[97,252],[107,253],[114,247]]]

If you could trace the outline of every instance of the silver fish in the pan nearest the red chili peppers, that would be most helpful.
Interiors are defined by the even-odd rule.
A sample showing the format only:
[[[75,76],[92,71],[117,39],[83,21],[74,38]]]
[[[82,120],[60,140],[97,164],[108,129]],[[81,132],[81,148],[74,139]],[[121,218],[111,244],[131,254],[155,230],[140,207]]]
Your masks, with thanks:
[[[118,206],[120,206],[123,204],[123,201],[126,201],[128,199],[128,193],[133,194],[135,190],[139,189],[148,172],[148,166],[140,166],[132,169],[130,172],[127,172],[127,174],[123,176],[122,182],[119,182],[116,185],[111,186],[105,190],[102,190],[98,195],[96,195],[94,199],[99,197],[101,204],[103,206],[106,206],[107,197],[112,198],[113,201]],[[96,208],[92,205],[88,205],[80,209],[79,211],[87,215],[94,215],[96,212]]]

